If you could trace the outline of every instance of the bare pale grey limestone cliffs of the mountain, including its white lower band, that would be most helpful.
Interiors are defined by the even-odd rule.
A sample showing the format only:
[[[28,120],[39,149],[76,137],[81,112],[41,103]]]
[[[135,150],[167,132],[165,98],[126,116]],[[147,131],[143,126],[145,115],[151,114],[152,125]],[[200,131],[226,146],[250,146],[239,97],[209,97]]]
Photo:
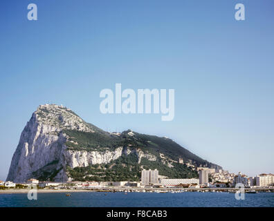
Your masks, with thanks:
[[[66,166],[89,166],[107,164],[116,160],[123,153],[136,153],[141,157],[155,160],[153,155],[146,155],[140,150],[129,151],[119,146],[114,150],[78,151],[68,148],[68,136],[64,129],[98,133],[99,128],[87,124],[70,109],[57,105],[42,105],[33,113],[30,121],[21,133],[19,144],[12,157],[7,181],[26,182],[32,177],[50,174],[51,180],[70,180]],[[109,133],[110,135],[110,133]]]

